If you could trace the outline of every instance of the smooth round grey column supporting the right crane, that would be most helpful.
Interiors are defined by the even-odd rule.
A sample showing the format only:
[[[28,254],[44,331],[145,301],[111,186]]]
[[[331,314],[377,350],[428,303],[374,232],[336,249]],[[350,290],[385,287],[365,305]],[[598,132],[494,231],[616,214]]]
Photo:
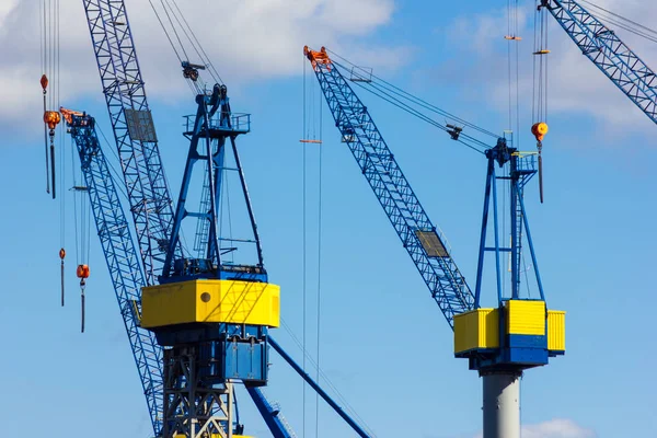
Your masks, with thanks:
[[[482,373],[484,438],[520,438],[521,372]]]

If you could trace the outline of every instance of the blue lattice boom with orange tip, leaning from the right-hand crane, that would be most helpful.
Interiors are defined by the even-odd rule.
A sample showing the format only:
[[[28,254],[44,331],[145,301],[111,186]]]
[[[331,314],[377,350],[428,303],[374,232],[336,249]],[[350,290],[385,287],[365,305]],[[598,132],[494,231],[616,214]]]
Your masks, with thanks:
[[[400,169],[366,106],[328,57],[304,49],[324,97],[362,174],[383,207],[431,297],[450,326],[458,313],[474,307],[474,296],[452,260],[446,239]]]

